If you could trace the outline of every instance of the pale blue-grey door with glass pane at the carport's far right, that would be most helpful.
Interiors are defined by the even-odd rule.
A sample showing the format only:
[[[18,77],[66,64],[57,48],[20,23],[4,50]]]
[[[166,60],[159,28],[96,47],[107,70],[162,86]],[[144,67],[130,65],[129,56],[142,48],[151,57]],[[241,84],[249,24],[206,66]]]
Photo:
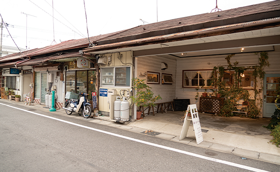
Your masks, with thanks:
[[[265,74],[264,75],[264,115],[263,117],[271,118],[276,109],[276,88],[280,83],[280,74]],[[280,104],[280,103],[278,103]]]

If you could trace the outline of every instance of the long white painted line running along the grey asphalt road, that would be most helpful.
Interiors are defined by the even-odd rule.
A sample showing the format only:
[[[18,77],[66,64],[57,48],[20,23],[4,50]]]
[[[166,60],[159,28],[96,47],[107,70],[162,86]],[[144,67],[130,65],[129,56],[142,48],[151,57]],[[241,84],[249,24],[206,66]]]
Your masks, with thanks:
[[[250,170],[250,171],[253,171],[253,172],[267,172],[267,171],[264,171],[264,170],[261,170],[261,169],[256,169],[256,168],[253,168],[253,167],[248,167],[248,166],[245,166],[245,165],[236,164],[236,163],[229,162],[229,161],[215,159],[215,158],[190,153],[190,152],[182,151],[182,150],[179,150],[179,149],[175,149],[175,148],[171,148],[171,147],[167,147],[167,146],[163,146],[163,145],[159,145],[159,144],[155,144],[155,143],[150,143],[148,141],[143,141],[143,140],[139,140],[139,139],[136,139],[136,138],[130,138],[130,137],[118,135],[118,134],[115,134],[115,133],[95,129],[95,128],[92,128],[92,127],[88,127],[88,126],[84,126],[84,125],[81,125],[81,124],[69,122],[69,121],[66,121],[66,120],[60,120],[60,119],[57,119],[57,118],[49,117],[49,116],[42,115],[42,114],[39,114],[39,113],[35,113],[35,112],[32,112],[32,111],[28,111],[28,110],[25,110],[25,109],[20,109],[18,107],[10,106],[10,105],[7,105],[7,104],[3,104],[3,103],[0,103],[0,104],[6,105],[8,107],[12,107],[12,108],[15,108],[15,109],[18,109],[18,110],[22,110],[22,111],[25,111],[25,112],[28,112],[28,113],[32,113],[32,114],[35,114],[35,115],[39,115],[39,116],[42,116],[42,117],[46,117],[46,118],[49,118],[49,119],[52,119],[52,120],[58,120],[58,121],[65,122],[65,123],[68,123],[68,124],[71,124],[71,125],[76,125],[76,126],[79,126],[79,127],[82,127],[82,128],[89,129],[89,130],[97,131],[97,132],[100,132],[100,133],[108,134],[108,135],[119,137],[119,138],[125,138],[125,139],[128,139],[128,140],[136,141],[136,142],[147,144],[147,145],[150,145],[150,146],[155,146],[155,147],[166,149],[166,150],[169,150],[169,151],[174,151],[174,152],[178,152],[178,153],[185,154],[185,155],[191,155],[191,156],[195,156],[195,157],[198,157],[198,158],[201,158],[201,159],[206,159],[206,160],[209,160],[209,161],[222,163],[222,164],[230,165],[230,166],[233,166],[233,167],[238,167],[238,168],[241,168],[241,169]]]

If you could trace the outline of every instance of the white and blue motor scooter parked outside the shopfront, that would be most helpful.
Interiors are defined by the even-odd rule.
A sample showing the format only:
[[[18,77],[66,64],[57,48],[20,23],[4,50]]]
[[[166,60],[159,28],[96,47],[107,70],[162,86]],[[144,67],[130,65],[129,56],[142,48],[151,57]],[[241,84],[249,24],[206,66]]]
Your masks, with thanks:
[[[81,113],[84,118],[89,118],[91,115],[91,104],[88,103],[86,93],[79,93],[82,95],[79,99],[70,99],[65,101],[65,107],[63,109],[66,110],[67,115],[71,115],[73,112]]]

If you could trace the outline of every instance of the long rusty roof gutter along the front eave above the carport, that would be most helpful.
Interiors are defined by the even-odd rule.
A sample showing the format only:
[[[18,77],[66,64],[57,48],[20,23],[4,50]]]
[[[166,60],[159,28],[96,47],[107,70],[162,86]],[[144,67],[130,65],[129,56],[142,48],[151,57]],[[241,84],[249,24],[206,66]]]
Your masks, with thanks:
[[[257,22],[257,21],[261,21],[261,22]],[[129,46],[129,45],[134,45],[134,44],[147,44],[147,43],[152,43],[152,42],[156,42],[156,41],[166,41],[166,40],[176,39],[176,38],[185,38],[185,37],[195,36],[195,35],[200,35],[200,34],[212,34],[212,33],[217,32],[217,30],[219,30],[219,32],[225,32],[225,31],[230,31],[230,30],[235,30],[235,29],[242,29],[242,28],[248,28],[248,27],[253,27],[253,26],[271,24],[271,23],[277,23],[278,25],[280,25],[280,17],[264,19],[264,21],[262,21],[262,20],[257,20],[257,21],[243,22],[243,23],[230,24],[230,25],[224,25],[224,26],[219,26],[219,27],[200,29],[200,30],[195,30],[195,31],[187,31],[187,32],[181,32],[181,33],[175,33],[175,34],[169,34],[169,35],[167,34],[167,35],[162,35],[162,36],[153,36],[153,37],[148,37],[148,38],[136,39],[136,40],[131,40],[131,41],[123,41],[123,42],[119,42],[119,43],[99,45],[99,46],[84,49],[82,52],[95,52],[95,51],[101,50],[101,49],[113,49],[113,48],[119,48],[121,46]],[[231,26],[231,25],[234,25],[234,26]],[[183,33],[185,33],[185,34],[183,34]]]

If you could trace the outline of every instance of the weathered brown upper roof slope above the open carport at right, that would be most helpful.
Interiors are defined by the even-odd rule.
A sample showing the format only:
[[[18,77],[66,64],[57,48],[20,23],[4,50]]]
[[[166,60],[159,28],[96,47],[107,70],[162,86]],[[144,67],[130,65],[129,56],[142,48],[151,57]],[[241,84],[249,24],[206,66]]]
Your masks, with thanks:
[[[107,38],[104,38],[102,41],[108,40],[107,42],[109,43],[115,43],[112,39],[120,40],[121,38],[123,38],[122,41],[124,41],[124,37],[128,36],[133,36],[133,39],[139,39],[144,37],[179,33],[183,31],[192,31],[197,30],[198,28],[203,29],[214,26],[271,18],[272,16],[268,16],[269,14],[274,15],[273,17],[279,17],[280,0],[234,8],[215,13],[205,13],[195,16],[181,17],[156,23],[150,23],[132,28],[130,30],[127,30],[126,32],[109,36]]]

